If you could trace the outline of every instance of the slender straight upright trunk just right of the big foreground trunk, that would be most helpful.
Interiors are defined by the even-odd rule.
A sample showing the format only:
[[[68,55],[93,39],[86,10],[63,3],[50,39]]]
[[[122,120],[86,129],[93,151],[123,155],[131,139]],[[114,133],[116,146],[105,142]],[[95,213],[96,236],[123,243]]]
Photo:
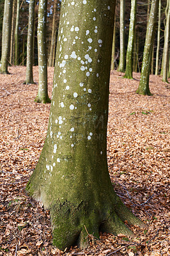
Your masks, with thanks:
[[[120,0],[120,62],[118,71],[125,72],[125,0]]]

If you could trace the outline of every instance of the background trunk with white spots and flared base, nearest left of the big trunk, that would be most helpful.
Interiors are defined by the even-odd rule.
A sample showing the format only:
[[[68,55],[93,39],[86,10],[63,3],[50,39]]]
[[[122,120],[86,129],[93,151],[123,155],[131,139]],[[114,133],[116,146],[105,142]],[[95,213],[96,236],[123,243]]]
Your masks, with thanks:
[[[50,102],[47,91],[47,47],[46,47],[47,0],[40,0],[38,7],[38,94],[35,102]]]

